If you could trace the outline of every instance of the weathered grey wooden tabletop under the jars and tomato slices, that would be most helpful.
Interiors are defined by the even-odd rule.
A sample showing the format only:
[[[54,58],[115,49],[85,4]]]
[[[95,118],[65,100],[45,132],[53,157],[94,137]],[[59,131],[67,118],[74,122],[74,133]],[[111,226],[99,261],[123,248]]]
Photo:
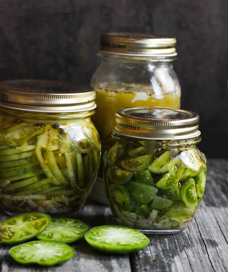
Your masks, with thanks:
[[[5,220],[6,215],[1,216]],[[116,224],[110,208],[88,200],[77,218],[91,227]],[[75,256],[53,267],[23,266],[1,246],[1,271],[228,271],[228,161],[208,160],[203,202],[190,226],[178,234],[148,235],[150,244],[141,252],[125,256],[100,253],[85,240],[72,246]]]

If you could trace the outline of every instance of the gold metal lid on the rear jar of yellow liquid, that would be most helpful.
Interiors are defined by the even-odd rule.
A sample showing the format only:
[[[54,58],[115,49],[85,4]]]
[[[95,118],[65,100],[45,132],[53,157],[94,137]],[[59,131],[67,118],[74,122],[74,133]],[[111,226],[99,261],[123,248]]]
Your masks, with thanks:
[[[176,38],[152,34],[110,32],[101,34],[101,52],[141,57],[174,57]]]

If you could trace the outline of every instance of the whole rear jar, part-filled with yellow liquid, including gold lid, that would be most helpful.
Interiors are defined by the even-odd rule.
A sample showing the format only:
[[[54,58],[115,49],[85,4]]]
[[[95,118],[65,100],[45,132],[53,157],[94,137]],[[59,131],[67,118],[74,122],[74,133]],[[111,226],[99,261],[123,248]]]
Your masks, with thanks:
[[[102,153],[114,143],[111,137],[115,112],[123,107],[159,106],[180,108],[181,87],[173,61],[176,39],[150,34],[106,33],[101,35],[91,85],[96,88],[97,110],[93,122],[101,137]],[[106,202],[101,167],[92,198]]]

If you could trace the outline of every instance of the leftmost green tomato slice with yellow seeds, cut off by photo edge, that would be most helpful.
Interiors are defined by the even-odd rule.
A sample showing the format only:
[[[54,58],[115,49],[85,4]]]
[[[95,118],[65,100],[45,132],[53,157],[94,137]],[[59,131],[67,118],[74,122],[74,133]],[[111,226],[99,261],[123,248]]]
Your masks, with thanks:
[[[51,217],[42,212],[28,212],[13,216],[0,224],[0,239],[3,244],[14,244],[36,237],[51,222]]]

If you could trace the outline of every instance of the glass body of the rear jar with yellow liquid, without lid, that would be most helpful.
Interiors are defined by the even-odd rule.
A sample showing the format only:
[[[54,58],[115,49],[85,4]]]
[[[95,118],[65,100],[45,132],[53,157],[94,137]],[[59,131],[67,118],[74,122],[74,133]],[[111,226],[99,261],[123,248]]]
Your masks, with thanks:
[[[99,55],[101,64],[91,80],[92,87],[96,88],[97,104],[92,120],[101,137],[103,153],[114,144],[111,134],[118,109],[138,106],[180,108],[181,88],[168,58]],[[101,162],[98,174],[101,177],[102,169]]]

